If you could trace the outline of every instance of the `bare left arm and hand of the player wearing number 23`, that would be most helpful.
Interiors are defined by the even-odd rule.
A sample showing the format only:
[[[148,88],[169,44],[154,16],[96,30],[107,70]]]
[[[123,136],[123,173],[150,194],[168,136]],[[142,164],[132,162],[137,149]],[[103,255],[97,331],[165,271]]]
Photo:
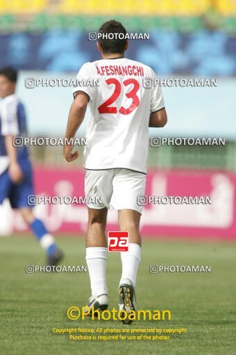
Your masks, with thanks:
[[[76,93],[74,93],[74,102],[71,104],[69,110],[67,130],[65,133],[65,139],[67,139],[67,141],[74,139],[78,128],[81,126],[81,123],[83,123],[89,99],[90,97],[83,91],[76,91]],[[72,152],[73,148],[74,145],[72,143],[64,145],[63,155],[67,161],[73,161],[78,158],[78,151]]]

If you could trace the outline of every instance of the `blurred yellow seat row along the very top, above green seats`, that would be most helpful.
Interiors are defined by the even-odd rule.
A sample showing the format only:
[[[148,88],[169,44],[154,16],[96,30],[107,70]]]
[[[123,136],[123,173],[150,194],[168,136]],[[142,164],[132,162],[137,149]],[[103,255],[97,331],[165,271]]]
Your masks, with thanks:
[[[0,13],[40,13],[49,10],[62,14],[129,15],[129,16],[201,16],[214,8],[223,16],[236,15],[235,0],[0,0]]]

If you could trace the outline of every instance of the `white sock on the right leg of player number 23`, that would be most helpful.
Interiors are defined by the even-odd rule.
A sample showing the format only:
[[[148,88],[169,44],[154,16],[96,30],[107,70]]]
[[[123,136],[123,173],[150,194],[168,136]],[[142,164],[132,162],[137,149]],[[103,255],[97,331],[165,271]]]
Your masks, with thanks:
[[[122,275],[120,285],[121,283],[127,283],[127,280],[129,280],[135,287],[137,269],[141,261],[140,254],[141,247],[134,243],[129,244],[128,251],[121,251]]]

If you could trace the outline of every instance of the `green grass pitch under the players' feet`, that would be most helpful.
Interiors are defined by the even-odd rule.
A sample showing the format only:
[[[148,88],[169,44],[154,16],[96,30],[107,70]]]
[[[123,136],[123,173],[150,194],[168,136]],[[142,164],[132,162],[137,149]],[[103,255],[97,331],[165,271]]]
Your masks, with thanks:
[[[62,265],[85,265],[81,237],[57,237]],[[236,244],[176,239],[144,239],[137,281],[140,309],[171,310],[171,321],[139,321],[133,328],[186,328],[170,340],[86,341],[53,334],[56,328],[123,328],[116,321],[75,322],[70,306],[90,297],[88,273],[26,274],[25,265],[44,265],[44,253],[30,235],[0,237],[0,354],[236,354]],[[149,265],[210,265],[210,273],[150,274]],[[121,265],[108,255],[110,308],[118,303]]]

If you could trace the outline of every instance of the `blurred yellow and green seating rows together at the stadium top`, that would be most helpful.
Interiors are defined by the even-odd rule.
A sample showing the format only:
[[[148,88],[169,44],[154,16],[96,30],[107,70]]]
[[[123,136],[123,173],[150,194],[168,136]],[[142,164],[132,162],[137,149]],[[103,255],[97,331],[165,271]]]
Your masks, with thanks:
[[[115,15],[114,15],[115,14]],[[220,28],[236,33],[235,0],[0,0],[0,31],[97,29],[110,18],[129,29],[162,28],[191,33]]]

